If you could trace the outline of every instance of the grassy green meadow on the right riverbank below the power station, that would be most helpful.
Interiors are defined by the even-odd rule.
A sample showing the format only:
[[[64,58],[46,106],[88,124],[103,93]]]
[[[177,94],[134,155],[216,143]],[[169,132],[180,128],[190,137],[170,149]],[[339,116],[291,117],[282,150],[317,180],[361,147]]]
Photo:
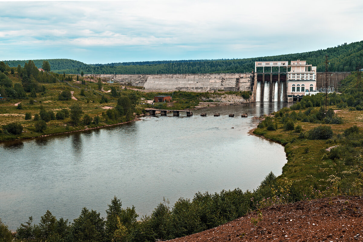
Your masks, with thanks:
[[[331,106],[331,108],[337,110],[336,106]],[[320,107],[315,108],[315,110],[319,109]],[[293,111],[289,111],[289,113],[291,112]],[[342,124],[309,123],[301,120],[295,122],[295,127],[300,125],[305,134],[321,125],[331,127],[334,135],[327,140],[302,138],[299,132],[287,131],[283,124],[278,124],[275,131],[268,131],[266,127],[254,130],[254,134],[285,146],[288,161],[282,168],[282,175],[278,177],[278,180],[282,181],[287,178],[289,181],[294,181],[301,189],[313,186],[322,190],[336,184],[340,193],[354,193],[351,186],[357,177],[358,164],[350,165],[346,160],[350,158],[355,160],[355,156],[359,155],[362,146],[351,147],[350,153],[343,153],[335,158],[332,158],[331,155],[331,152],[335,152],[334,148],[331,151],[326,151],[326,149],[336,145],[338,148],[345,147],[346,139],[344,139],[343,132],[354,125],[359,127],[359,135],[362,135],[363,111],[338,110],[336,115],[343,118]],[[278,120],[274,120],[274,122],[278,122]]]

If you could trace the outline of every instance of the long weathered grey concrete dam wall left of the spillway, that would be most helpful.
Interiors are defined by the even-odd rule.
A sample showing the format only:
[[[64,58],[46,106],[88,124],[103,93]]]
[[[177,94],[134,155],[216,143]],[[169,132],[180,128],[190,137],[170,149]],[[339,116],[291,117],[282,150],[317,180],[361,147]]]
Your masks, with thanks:
[[[146,90],[253,91],[252,73],[226,74],[87,74]]]

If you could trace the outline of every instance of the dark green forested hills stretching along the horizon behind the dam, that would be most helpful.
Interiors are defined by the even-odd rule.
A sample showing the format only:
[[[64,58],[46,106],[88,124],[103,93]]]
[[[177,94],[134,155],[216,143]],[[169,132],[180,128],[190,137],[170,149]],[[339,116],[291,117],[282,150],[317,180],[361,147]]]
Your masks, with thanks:
[[[145,61],[120,62],[108,64],[85,64],[69,59],[34,60],[37,67],[43,61],[50,63],[51,70],[57,73],[80,74],[168,74],[168,73],[244,73],[254,70],[255,61],[291,61],[306,60],[324,71],[325,55],[329,56],[329,71],[353,71],[356,66],[363,66],[363,41],[344,43],[325,50],[227,60],[181,60],[181,61]],[[23,66],[27,61],[4,61],[9,66]]]

